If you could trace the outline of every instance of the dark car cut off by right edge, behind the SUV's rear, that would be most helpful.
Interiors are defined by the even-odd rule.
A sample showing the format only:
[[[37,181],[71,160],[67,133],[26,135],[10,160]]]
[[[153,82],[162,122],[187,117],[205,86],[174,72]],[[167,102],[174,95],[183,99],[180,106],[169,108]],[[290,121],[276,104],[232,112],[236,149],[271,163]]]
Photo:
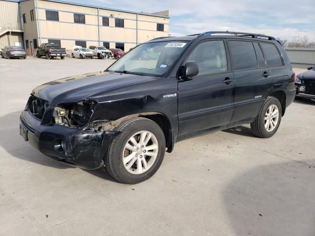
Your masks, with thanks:
[[[315,66],[296,76],[296,96],[315,101]]]

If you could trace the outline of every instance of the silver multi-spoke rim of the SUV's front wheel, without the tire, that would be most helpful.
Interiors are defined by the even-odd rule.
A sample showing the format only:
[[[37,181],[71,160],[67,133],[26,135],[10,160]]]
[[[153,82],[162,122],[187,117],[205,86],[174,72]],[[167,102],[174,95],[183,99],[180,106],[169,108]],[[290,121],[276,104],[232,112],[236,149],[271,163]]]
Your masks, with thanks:
[[[123,150],[123,163],[126,170],[134,175],[148,171],[158,157],[158,139],[150,131],[133,134]]]

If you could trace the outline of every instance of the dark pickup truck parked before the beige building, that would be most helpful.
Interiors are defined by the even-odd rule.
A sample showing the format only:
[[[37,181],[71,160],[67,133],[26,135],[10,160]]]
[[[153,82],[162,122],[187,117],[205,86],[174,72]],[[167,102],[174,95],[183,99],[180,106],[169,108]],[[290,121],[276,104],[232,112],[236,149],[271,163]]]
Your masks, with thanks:
[[[45,56],[46,59],[52,59],[52,58],[57,58],[57,57],[64,59],[65,48],[61,48],[59,44],[56,44],[56,43],[42,43],[36,49],[36,56],[37,58],[41,58],[42,56]]]

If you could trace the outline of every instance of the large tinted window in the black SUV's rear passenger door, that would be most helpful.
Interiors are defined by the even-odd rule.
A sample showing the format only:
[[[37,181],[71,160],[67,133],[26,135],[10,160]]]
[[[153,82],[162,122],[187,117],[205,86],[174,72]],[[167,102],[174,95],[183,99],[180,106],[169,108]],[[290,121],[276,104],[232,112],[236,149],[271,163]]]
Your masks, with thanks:
[[[257,68],[257,59],[252,42],[229,41],[229,48],[235,70]]]

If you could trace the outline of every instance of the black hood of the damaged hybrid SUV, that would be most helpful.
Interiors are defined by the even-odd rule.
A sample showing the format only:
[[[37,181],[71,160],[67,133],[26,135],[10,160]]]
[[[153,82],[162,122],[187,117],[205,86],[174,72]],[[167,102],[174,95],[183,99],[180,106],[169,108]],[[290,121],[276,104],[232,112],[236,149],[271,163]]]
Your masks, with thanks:
[[[32,94],[56,106],[79,102],[100,92],[152,79],[154,77],[101,71],[51,81],[33,89]]]

